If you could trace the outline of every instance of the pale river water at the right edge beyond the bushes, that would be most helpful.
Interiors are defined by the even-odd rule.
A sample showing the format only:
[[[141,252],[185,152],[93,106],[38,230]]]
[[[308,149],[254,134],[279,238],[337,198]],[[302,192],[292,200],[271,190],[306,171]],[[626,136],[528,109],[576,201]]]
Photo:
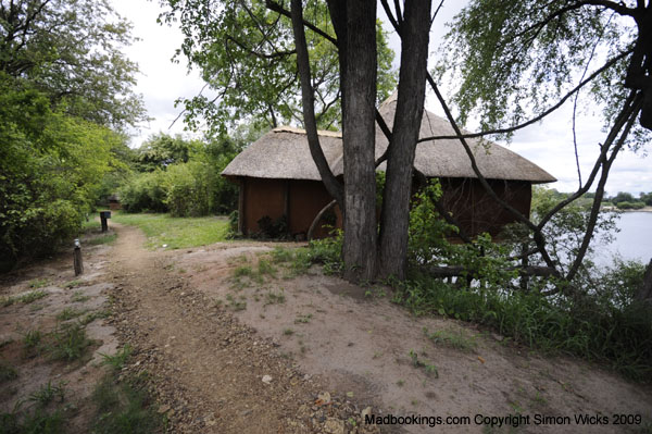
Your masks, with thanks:
[[[625,260],[638,260],[647,264],[652,259],[652,212],[624,212],[617,226],[620,232],[613,243],[597,246],[595,262],[607,265],[611,258],[618,253]]]

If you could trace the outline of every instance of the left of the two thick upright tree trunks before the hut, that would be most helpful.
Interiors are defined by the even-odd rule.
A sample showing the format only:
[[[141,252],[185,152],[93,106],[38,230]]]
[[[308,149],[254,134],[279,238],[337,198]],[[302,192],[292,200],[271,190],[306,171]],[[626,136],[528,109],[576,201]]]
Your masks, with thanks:
[[[333,13],[333,12],[331,12]],[[344,147],[344,277],[376,275],[376,0],[347,2]],[[341,34],[341,33],[340,33]]]

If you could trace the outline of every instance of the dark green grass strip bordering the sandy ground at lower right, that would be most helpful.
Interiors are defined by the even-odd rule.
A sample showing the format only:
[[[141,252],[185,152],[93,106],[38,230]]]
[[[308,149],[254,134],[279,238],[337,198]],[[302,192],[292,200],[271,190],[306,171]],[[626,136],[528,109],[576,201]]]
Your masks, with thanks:
[[[417,277],[399,285],[394,301],[416,314],[441,314],[489,326],[543,352],[566,352],[603,361],[640,382],[652,377],[652,312],[649,308],[609,307],[589,298],[574,302],[488,288],[456,288],[441,281]],[[437,335],[449,345],[452,335]]]

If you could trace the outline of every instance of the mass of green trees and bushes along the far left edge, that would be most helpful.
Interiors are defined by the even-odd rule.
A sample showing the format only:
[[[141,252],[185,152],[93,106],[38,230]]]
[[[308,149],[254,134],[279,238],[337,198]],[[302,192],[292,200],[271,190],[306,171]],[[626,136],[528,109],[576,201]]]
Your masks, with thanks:
[[[27,0],[0,10],[0,271],[77,235],[143,119],[108,1]]]

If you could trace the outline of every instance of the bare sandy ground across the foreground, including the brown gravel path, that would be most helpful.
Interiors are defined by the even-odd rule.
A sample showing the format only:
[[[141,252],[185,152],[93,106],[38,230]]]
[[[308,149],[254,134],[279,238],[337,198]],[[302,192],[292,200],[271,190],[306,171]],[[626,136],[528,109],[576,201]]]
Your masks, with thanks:
[[[465,323],[414,318],[391,303],[389,288],[354,286],[318,268],[286,278],[287,270],[275,265],[275,276],[234,278],[238,268],[255,270],[274,244],[148,251],[138,230],[112,227],[117,241],[88,253],[85,290],[92,306],[111,297],[114,314],[88,331],[103,342],[104,352],[125,343],[135,348],[128,370],[151,375],[170,432],[651,430],[644,427],[652,422],[649,386],[584,361],[543,357]],[[62,284],[72,280],[57,266],[40,264],[5,278],[0,294],[24,290],[39,273],[59,282],[43,299],[57,312],[67,290]],[[2,339],[18,339],[34,321],[53,321],[45,311],[0,308]],[[437,333],[439,338],[431,338]],[[441,336],[456,337],[462,348]],[[16,345],[3,346],[2,358],[13,357]],[[93,367],[89,360],[71,375]],[[23,369],[39,368],[26,363]],[[43,371],[41,380],[52,372]],[[88,389],[95,377],[84,375],[87,380],[76,383]],[[13,395],[2,393],[5,407],[29,388],[18,380],[9,385]],[[405,425],[366,425],[366,413],[421,417],[422,424],[414,423],[416,418]],[[575,418],[581,414],[603,423],[578,424]],[[615,425],[617,414],[632,414],[630,422],[640,416],[643,424]],[[514,429],[498,426],[501,422],[521,423]]]

